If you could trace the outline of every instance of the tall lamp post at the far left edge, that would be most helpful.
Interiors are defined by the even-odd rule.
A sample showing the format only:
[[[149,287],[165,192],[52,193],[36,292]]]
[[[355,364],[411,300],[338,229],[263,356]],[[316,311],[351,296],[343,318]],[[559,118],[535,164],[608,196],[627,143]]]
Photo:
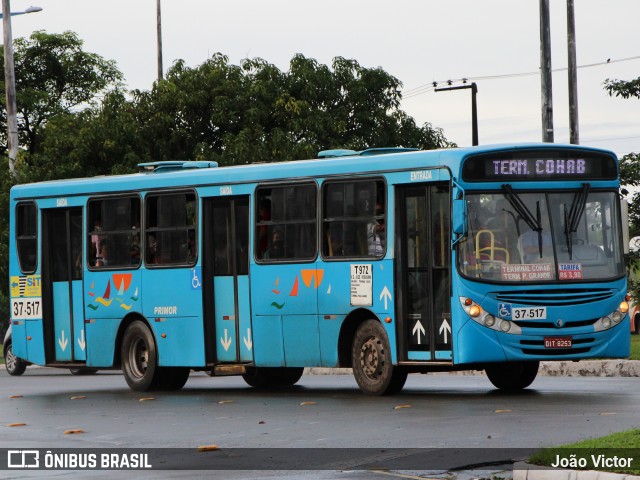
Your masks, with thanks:
[[[7,92],[7,150],[9,150],[9,171],[16,176],[16,157],[18,156],[18,116],[16,107],[16,75],[13,65],[13,38],[11,36],[11,17],[34,13],[40,7],[29,7],[19,12],[11,12],[9,0],[2,0],[2,29],[4,37],[4,83]]]

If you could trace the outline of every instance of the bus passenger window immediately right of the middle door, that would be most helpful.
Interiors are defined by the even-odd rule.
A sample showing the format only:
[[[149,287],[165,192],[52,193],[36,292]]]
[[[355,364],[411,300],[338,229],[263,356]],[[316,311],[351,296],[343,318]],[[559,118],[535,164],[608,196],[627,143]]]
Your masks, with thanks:
[[[256,194],[256,258],[265,262],[316,257],[316,186],[260,188]]]

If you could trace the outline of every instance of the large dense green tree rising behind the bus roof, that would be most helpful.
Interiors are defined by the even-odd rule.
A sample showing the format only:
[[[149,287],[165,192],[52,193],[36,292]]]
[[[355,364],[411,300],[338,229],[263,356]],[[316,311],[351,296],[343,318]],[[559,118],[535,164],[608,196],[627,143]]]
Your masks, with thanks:
[[[141,138],[157,160],[222,165],[313,158],[327,148],[449,146],[400,110],[401,83],[380,68],[338,57],[332,68],[296,55],[288,72],[262,59],[239,66],[216,54],[177,61],[151,91],[133,92]]]

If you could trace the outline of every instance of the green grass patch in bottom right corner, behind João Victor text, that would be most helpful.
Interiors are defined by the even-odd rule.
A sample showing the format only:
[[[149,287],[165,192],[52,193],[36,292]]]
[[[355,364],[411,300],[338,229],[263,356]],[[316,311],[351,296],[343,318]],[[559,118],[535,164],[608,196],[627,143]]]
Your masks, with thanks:
[[[552,466],[557,464],[557,458],[566,459],[565,468],[573,470],[601,470],[606,472],[640,474],[640,458],[638,458],[638,445],[640,445],[640,429],[627,430],[613,433],[606,437],[592,438],[567,445],[545,447],[529,459],[534,465]],[[596,466],[594,459],[599,455],[613,460],[615,457],[632,458],[629,467],[622,462],[616,466]],[[573,459],[573,464],[571,460]],[[580,461],[582,465],[576,463]]]

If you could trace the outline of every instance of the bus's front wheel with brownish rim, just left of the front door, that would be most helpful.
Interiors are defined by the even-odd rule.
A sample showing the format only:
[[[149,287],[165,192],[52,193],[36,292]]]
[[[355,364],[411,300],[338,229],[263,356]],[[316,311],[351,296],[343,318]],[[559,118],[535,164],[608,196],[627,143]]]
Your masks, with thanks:
[[[368,395],[393,395],[407,381],[407,370],[391,363],[387,333],[377,320],[367,320],[356,330],[351,361],[353,376]]]

